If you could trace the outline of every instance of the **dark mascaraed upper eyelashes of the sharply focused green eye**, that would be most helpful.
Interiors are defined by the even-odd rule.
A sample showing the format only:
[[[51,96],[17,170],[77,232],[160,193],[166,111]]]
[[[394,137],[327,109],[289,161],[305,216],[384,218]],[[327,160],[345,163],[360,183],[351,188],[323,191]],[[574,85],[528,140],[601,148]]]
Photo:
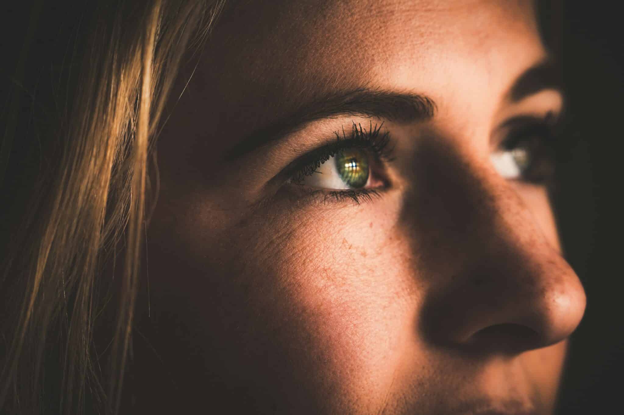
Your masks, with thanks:
[[[307,176],[314,174],[321,164],[328,161],[329,158],[336,156],[339,151],[346,149],[366,149],[373,152],[374,156],[378,157],[379,160],[392,161],[393,148],[388,146],[390,141],[389,132],[381,133],[383,124],[375,124],[373,127],[373,122],[371,121],[369,129],[366,129],[361,123],[353,123],[349,137],[346,136],[344,128],[342,137],[338,131],[334,132],[336,141],[308,153],[303,160],[293,167],[294,174],[291,175],[291,182],[300,184]]]

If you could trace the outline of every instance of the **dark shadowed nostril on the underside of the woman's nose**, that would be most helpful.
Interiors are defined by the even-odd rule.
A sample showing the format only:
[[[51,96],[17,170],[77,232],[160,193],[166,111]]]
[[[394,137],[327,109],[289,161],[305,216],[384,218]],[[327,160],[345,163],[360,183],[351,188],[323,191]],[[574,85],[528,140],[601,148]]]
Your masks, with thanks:
[[[479,352],[497,350],[515,354],[534,348],[539,342],[540,337],[535,330],[525,325],[507,323],[490,325],[479,330],[469,338],[467,345]]]

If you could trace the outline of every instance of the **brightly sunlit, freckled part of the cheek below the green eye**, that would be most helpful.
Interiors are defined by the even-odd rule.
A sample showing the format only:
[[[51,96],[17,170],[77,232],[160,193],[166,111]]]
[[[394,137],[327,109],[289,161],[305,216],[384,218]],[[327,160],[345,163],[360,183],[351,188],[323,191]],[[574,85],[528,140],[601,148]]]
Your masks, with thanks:
[[[408,315],[392,218],[383,215],[368,205],[300,217],[250,253],[249,264],[260,264],[275,293],[266,321],[280,322],[273,333],[295,372],[288,375],[327,408],[373,409],[375,395],[389,389],[415,317]]]

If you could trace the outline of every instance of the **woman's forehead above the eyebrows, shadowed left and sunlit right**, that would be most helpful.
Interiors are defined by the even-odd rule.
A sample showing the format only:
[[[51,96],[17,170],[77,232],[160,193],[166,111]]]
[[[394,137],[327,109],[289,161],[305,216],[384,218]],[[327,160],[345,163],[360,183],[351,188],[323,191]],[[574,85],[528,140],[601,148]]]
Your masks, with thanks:
[[[232,0],[193,85],[252,128],[361,87],[497,100],[543,57],[531,1]]]

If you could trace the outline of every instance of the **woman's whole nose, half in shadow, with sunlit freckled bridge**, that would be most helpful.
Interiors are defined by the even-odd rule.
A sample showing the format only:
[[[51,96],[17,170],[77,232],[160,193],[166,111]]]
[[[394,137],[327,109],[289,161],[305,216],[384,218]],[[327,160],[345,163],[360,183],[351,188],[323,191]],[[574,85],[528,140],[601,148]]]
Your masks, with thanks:
[[[426,220],[417,223],[438,241],[420,256],[437,271],[421,313],[426,335],[500,353],[567,338],[582,319],[585,291],[536,219],[536,208],[550,209],[547,198],[525,203],[487,164],[437,156],[426,157],[429,185],[418,197],[428,201],[417,215]]]

